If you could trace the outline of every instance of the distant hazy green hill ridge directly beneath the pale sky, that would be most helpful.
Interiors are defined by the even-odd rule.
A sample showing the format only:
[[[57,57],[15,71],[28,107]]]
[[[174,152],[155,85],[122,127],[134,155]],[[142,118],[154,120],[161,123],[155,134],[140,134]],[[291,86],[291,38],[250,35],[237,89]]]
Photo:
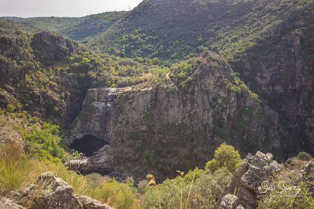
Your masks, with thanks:
[[[90,38],[105,32],[127,12],[105,12],[85,17],[39,17],[16,18],[5,17],[26,26],[34,26],[40,30],[51,30],[66,35],[78,42],[85,43]]]

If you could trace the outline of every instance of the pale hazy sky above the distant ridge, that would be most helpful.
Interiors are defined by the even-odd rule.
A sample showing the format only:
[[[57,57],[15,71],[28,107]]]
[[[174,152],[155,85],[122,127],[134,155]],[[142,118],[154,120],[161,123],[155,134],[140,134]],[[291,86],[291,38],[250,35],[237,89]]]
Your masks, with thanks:
[[[83,17],[109,11],[128,11],[142,0],[0,0],[0,17]]]

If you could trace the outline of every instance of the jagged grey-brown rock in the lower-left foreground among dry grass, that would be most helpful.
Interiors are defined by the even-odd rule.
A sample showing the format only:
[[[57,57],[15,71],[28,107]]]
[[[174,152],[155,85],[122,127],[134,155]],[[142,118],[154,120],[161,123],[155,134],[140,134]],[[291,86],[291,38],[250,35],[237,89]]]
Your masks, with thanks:
[[[18,190],[15,195],[22,197],[22,204],[39,209],[113,209],[87,196],[73,194],[73,187],[61,178],[46,172],[36,183]]]

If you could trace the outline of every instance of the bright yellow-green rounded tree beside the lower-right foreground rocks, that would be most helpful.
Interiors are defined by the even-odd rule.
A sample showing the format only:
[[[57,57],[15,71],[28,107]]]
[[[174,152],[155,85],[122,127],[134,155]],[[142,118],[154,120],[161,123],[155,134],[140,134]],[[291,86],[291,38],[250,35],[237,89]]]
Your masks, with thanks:
[[[218,168],[226,167],[231,173],[235,172],[236,168],[242,162],[242,159],[235,148],[231,145],[227,145],[225,142],[215,150],[214,159],[206,163],[206,167],[211,172],[215,172]]]

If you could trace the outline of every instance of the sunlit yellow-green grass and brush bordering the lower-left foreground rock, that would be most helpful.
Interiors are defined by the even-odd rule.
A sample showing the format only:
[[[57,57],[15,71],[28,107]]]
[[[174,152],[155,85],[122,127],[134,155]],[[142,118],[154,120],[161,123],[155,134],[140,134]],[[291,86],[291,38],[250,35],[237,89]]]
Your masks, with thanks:
[[[132,189],[126,183],[109,179],[101,186],[94,187],[86,181],[85,176],[78,175],[74,170],[68,170],[62,164],[24,155],[14,144],[0,144],[0,196],[10,198],[13,191],[34,183],[47,171],[72,185],[75,194],[89,196],[116,209],[138,207]],[[36,191],[32,193],[38,195]],[[24,206],[30,207],[31,202],[26,202]]]

